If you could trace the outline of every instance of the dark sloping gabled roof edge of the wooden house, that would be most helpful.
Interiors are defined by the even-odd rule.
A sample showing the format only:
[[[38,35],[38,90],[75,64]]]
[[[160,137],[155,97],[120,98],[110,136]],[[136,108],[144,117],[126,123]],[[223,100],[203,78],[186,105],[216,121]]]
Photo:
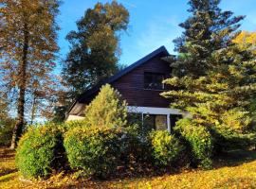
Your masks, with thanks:
[[[119,73],[117,73],[116,75],[114,75],[113,77],[109,77],[108,79],[103,80],[101,83],[99,83],[98,85],[96,85],[95,87],[93,87],[92,89],[85,91],[84,93],[82,93],[81,95],[79,95],[79,97],[77,98],[77,100],[72,104],[72,106],[70,107],[69,111],[70,112],[73,107],[75,106],[75,104],[77,102],[82,103],[84,102],[84,100],[92,95],[97,93],[101,86],[107,83],[112,83],[116,80],[118,80],[120,77],[128,74],[129,72],[131,72],[132,70],[134,70],[135,68],[137,68],[138,66],[142,65],[143,63],[147,62],[148,60],[151,60],[153,58],[155,58],[156,56],[158,56],[159,54],[162,54],[163,56],[170,56],[169,52],[167,51],[167,49],[165,48],[165,46],[161,46],[159,48],[157,48],[155,51],[153,51],[152,53],[150,53],[149,55],[145,56],[144,58],[137,60],[135,63],[131,64],[130,66],[126,67],[125,69],[121,70]]]

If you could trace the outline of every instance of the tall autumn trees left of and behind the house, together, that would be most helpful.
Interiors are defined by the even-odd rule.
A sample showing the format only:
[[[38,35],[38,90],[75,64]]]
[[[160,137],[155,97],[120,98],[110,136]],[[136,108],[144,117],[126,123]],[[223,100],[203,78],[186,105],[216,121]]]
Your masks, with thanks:
[[[127,28],[129,12],[116,1],[85,10],[77,31],[66,36],[71,49],[61,61],[57,43],[61,1],[0,3],[0,106],[1,112],[8,112],[0,120],[4,129],[9,127],[5,120],[14,118],[14,148],[27,125],[64,121],[78,94],[121,69],[119,36]],[[58,63],[63,67],[60,76]]]

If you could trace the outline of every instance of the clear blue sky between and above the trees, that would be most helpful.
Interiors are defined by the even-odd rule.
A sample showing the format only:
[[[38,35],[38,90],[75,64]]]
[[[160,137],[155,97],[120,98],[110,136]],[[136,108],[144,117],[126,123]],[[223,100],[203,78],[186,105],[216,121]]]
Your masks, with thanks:
[[[93,8],[96,0],[64,0],[58,18],[62,30],[59,35],[61,57],[64,58],[69,43],[64,38],[70,30],[76,29],[75,22],[82,17],[84,10]],[[102,0],[101,3],[109,2]],[[119,62],[129,65],[136,60],[165,45],[174,53],[173,40],[181,35],[179,23],[189,14],[188,0],[119,0],[130,12],[127,32],[121,35],[122,55]],[[256,0],[222,0],[221,8],[232,10],[235,15],[246,15],[241,29],[256,31]]]

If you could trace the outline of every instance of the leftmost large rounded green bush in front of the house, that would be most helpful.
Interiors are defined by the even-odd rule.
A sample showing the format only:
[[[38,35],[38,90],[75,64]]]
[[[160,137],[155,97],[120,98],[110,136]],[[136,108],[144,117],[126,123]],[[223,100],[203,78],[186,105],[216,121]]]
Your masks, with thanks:
[[[62,133],[58,126],[32,127],[19,141],[15,162],[25,178],[46,178],[64,163]]]

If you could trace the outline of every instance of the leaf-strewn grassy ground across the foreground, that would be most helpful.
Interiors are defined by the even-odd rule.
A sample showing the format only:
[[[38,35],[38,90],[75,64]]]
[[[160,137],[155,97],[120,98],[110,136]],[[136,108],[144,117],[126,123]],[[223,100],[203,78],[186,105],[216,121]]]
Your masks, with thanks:
[[[256,151],[234,150],[223,154],[214,169],[184,170],[152,178],[91,181],[59,174],[45,181],[22,180],[14,152],[0,148],[0,188],[256,188]]]

